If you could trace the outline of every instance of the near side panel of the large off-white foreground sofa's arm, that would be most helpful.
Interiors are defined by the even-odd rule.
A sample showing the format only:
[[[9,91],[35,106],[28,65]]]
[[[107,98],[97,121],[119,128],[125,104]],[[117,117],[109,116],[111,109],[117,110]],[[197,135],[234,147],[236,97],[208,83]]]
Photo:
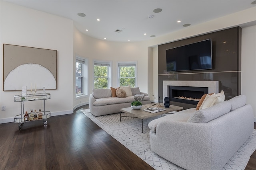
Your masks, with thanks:
[[[211,127],[202,123],[165,120],[150,131],[151,149],[185,169],[211,170]]]

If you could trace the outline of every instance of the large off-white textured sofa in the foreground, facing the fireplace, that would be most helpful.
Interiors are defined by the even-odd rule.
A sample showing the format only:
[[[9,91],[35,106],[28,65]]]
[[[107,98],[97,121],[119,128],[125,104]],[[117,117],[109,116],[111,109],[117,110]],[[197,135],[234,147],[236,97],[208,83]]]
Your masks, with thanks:
[[[246,96],[186,109],[148,124],[152,151],[186,170],[221,170],[254,129]]]

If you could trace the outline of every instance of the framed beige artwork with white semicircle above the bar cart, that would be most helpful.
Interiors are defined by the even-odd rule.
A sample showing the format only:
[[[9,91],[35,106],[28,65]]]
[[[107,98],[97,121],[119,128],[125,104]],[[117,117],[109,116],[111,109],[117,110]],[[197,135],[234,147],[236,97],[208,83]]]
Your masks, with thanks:
[[[3,90],[57,89],[57,50],[3,44]]]

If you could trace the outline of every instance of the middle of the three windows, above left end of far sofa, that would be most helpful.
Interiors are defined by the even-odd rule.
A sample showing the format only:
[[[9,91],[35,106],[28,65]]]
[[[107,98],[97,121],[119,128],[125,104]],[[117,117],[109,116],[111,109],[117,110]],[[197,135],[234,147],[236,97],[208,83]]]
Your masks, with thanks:
[[[110,88],[110,63],[94,61],[94,88]]]

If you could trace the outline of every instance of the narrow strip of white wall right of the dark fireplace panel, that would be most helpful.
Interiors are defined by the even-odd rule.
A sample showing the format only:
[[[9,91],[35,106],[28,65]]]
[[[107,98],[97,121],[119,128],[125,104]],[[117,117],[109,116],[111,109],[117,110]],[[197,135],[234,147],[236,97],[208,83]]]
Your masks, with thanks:
[[[242,88],[256,117],[256,25],[242,28]],[[255,119],[256,122],[256,119]]]

